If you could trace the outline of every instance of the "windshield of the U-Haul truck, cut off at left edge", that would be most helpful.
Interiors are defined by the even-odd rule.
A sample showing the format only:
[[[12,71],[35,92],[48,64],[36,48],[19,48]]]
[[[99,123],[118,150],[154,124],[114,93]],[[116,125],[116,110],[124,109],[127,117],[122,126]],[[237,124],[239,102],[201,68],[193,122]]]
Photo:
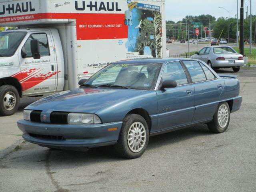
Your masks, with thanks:
[[[0,32],[0,57],[12,56],[26,34],[27,32]]]

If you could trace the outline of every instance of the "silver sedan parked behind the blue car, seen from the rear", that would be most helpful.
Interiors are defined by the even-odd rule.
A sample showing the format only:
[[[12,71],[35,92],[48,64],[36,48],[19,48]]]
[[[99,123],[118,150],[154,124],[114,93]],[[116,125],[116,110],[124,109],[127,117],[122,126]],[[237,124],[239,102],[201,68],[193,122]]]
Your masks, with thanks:
[[[191,58],[202,60],[211,68],[233,68],[235,72],[244,66],[244,57],[230,46],[207,46]]]

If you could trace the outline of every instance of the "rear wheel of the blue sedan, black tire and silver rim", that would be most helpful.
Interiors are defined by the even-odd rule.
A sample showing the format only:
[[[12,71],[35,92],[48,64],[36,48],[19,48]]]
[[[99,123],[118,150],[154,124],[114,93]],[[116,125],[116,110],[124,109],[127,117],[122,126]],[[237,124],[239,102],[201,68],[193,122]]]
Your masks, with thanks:
[[[223,122],[223,124],[220,124],[218,120],[218,116],[220,118],[220,121]],[[223,102],[218,104],[218,108],[213,116],[213,119],[211,122],[207,123],[207,126],[211,132],[223,133],[224,131],[227,130],[229,121],[230,121],[230,109],[229,109],[228,103]]]

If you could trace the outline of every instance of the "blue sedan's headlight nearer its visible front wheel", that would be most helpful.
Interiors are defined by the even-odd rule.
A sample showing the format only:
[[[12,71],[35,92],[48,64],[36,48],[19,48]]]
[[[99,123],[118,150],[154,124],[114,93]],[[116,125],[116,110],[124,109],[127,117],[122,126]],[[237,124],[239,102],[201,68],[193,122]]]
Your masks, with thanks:
[[[100,118],[90,113],[69,113],[68,124],[100,124]]]

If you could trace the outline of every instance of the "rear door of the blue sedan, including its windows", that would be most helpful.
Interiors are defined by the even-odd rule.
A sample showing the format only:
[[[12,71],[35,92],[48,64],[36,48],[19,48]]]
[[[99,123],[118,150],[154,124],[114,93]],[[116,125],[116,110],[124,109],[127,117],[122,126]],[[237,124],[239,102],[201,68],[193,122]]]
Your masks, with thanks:
[[[183,61],[192,79],[195,89],[195,113],[192,123],[212,119],[220,94],[224,88],[224,80],[216,76],[201,62]]]

